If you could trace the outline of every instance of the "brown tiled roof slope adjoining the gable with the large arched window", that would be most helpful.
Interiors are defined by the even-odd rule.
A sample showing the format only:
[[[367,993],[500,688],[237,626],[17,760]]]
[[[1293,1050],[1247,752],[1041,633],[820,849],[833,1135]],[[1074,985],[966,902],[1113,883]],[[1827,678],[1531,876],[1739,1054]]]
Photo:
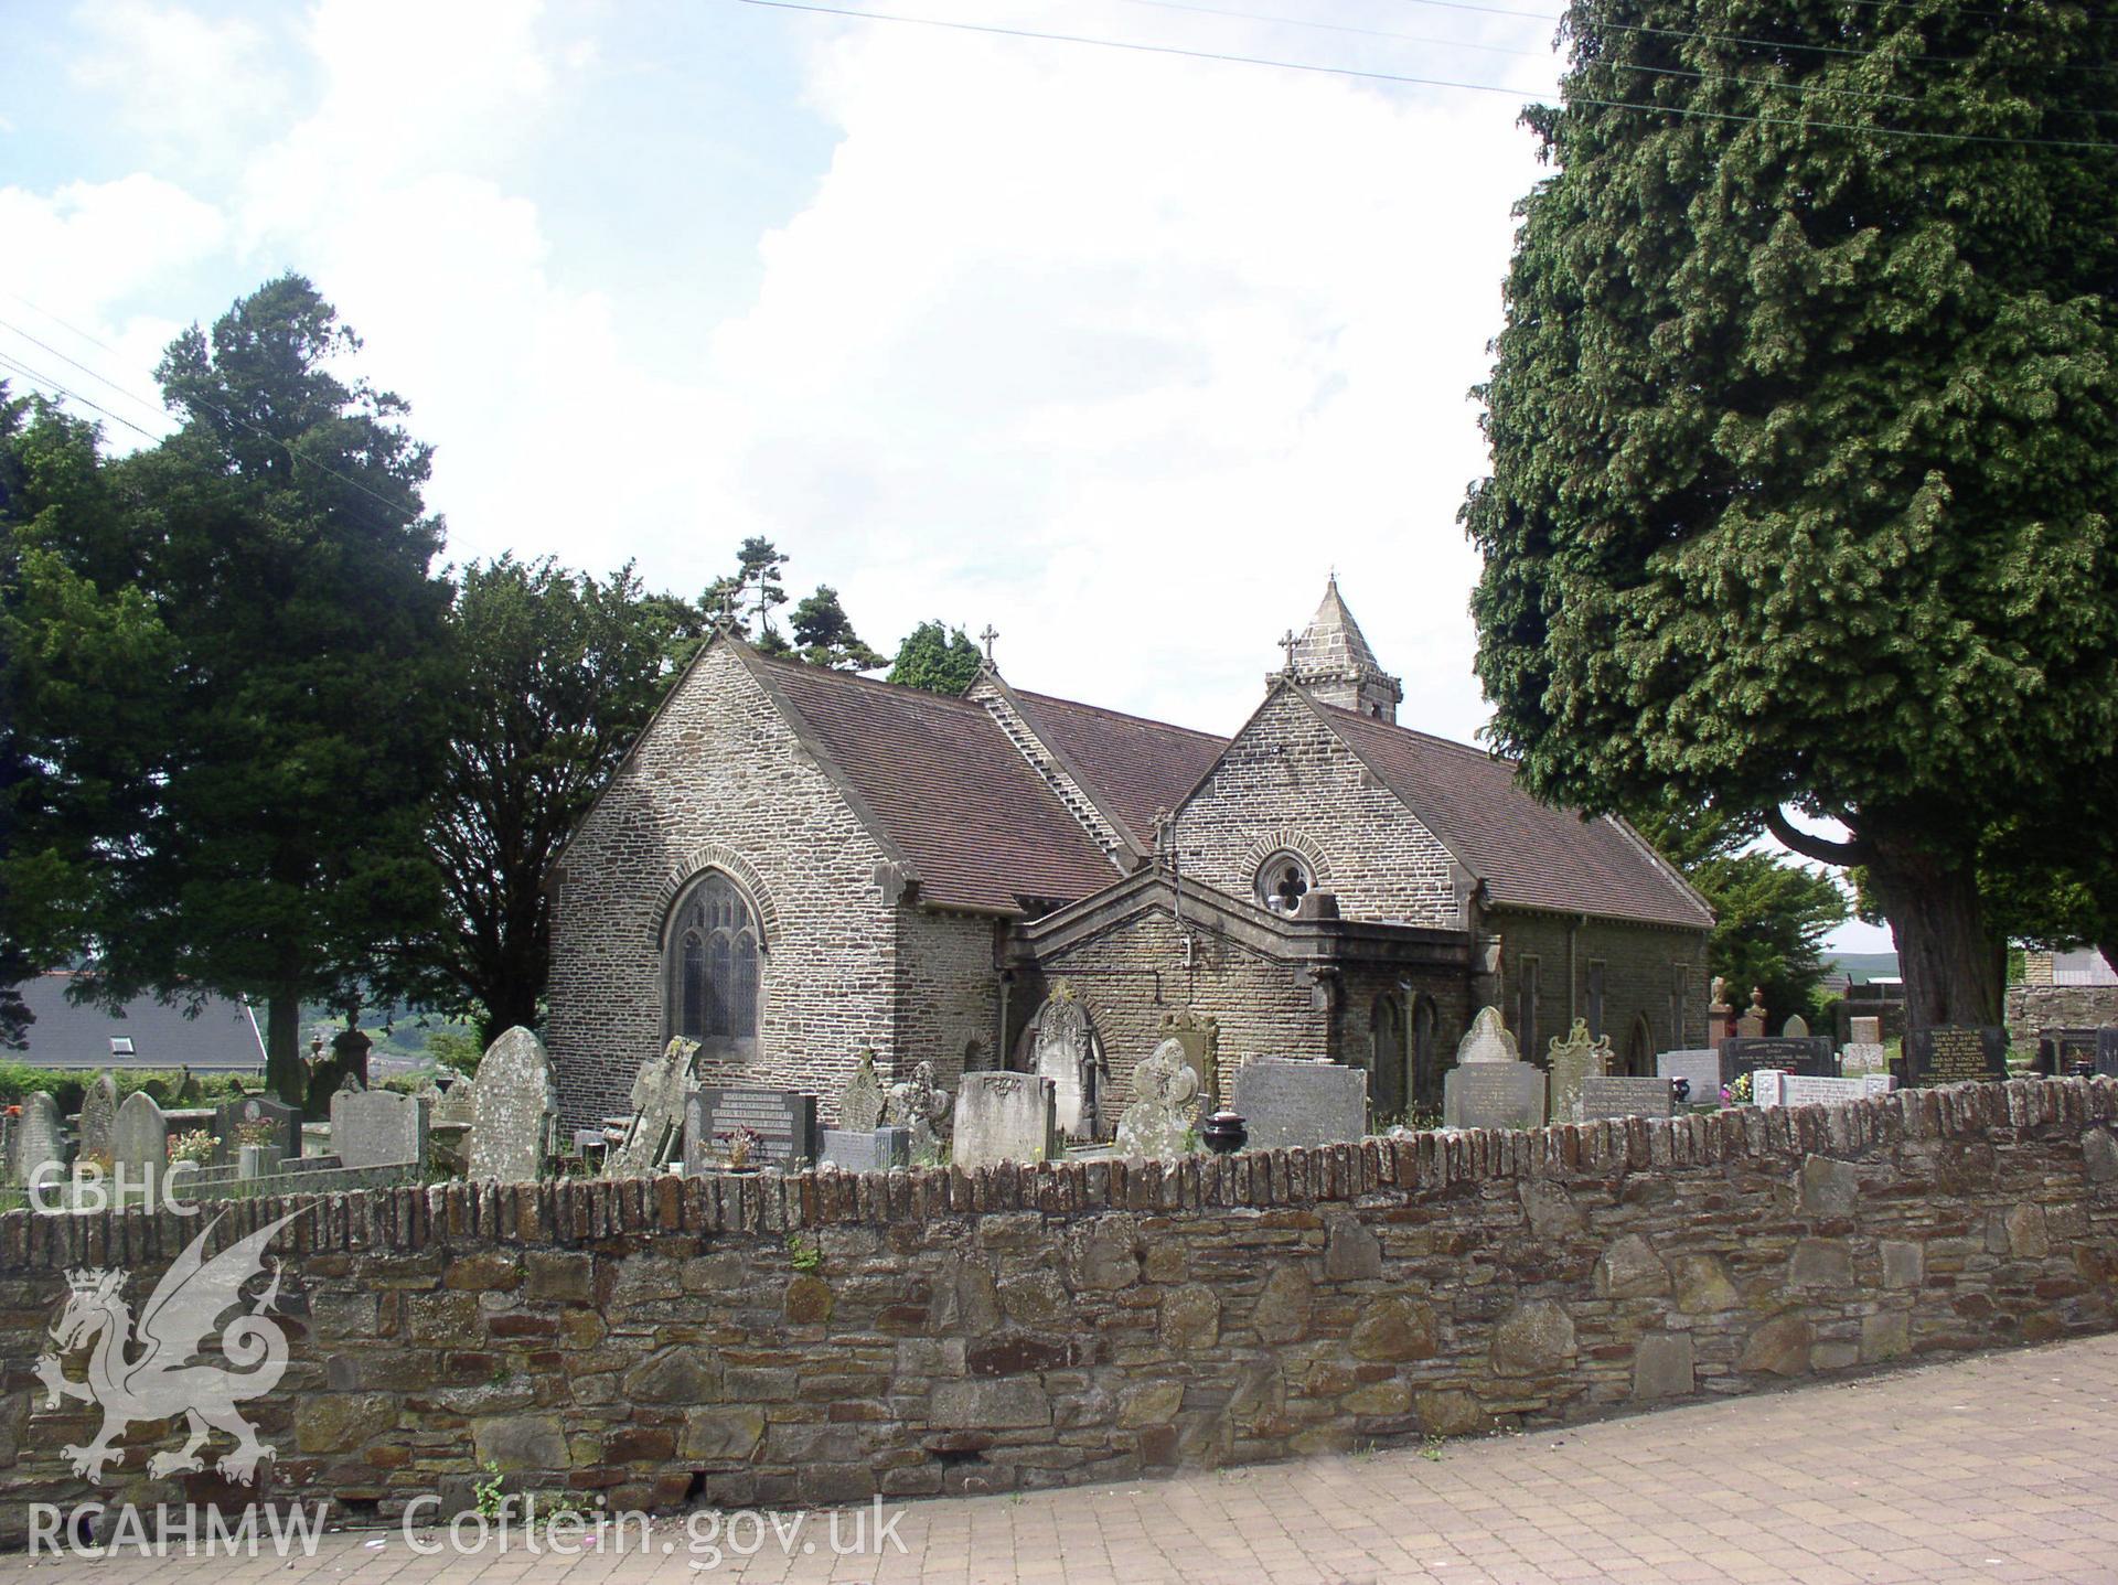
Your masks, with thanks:
[[[911,860],[921,901],[1019,909],[1029,898],[1072,903],[1118,877],[979,706],[754,659]]]

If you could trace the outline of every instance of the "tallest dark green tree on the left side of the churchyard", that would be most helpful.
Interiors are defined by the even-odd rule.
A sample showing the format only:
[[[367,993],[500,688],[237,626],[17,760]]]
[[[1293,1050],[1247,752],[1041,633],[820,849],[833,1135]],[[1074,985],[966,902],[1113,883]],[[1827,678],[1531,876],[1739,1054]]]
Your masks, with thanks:
[[[405,403],[341,373],[358,348],[299,275],[182,333],[159,371],[182,426],[106,464],[116,530],[53,545],[25,619],[72,657],[34,678],[42,720],[70,674],[163,659],[44,750],[93,992],[265,1000],[297,1102],[303,1000],[358,1009],[436,905],[441,523]]]

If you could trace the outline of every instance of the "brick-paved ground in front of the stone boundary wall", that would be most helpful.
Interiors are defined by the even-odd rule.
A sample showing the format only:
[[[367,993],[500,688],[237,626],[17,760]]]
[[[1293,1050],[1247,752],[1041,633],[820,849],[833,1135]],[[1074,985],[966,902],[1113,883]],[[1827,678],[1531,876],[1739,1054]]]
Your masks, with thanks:
[[[313,1557],[42,1562],[32,1581],[2118,1581],[2118,1337],[1811,1384],[1574,1430],[1019,1498],[911,1502],[907,1551],[489,1549],[345,1532]],[[718,1541],[718,1538],[716,1538]],[[737,1541],[748,1545],[750,1534]],[[841,1532],[851,1541],[851,1528]],[[665,1551],[669,1547],[669,1551]]]

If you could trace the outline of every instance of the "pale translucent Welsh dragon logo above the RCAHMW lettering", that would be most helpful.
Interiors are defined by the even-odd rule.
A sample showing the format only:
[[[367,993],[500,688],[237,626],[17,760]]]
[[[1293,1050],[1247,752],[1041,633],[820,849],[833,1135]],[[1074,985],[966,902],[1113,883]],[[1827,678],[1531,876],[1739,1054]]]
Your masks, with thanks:
[[[148,1475],[205,1468],[199,1447],[210,1432],[222,1430],[235,1439],[235,1447],[216,1468],[244,1485],[256,1481],[258,1464],[273,1449],[256,1439],[235,1401],[271,1392],[286,1371],[286,1333],[267,1316],[280,1297],[277,1261],[256,1303],[220,1329],[220,1354],[233,1369],[191,1360],[220,1318],[241,1303],[244,1284],[263,1271],[265,1246],[301,1214],[282,1216],[205,1259],[205,1242],[220,1225],[216,1216],[155,1284],[138,1320],[125,1303],[125,1271],[68,1271],[66,1310],[51,1329],[55,1348],[36,1363],[36,1375],[51,1394],[44,1399],[47,1409],[57,1409],[64,1399],[80,1399],[104,1411],[104,1428],[93,1443],[61,1449],[76,1475],[100,1481],[104,1464],[123,1460],[112,1443],[136,1420],[184,1415],[191,1437],[178,1452],[155,1454]],[[76,1348],[91,1348],[87,1382],[70,1382],[61,1373],[61,1360]]]

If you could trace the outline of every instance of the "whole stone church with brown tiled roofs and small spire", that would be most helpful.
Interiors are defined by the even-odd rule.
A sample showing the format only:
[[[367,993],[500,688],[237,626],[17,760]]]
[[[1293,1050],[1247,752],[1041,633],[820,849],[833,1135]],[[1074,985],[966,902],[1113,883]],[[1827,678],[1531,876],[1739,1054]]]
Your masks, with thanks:
[[[1108,1136],[1163,1034],[1368,1070],[1377,1123],[1438,1106],[1472,1015],[1525,1055],[1572,1019],[1622,1066],[1705,1043],[1711,913],[1620,820],[1398,725],[1339,595],[1235,737],[1012,687],[962,699],[718,636],[553,881],[561,1104],[625,1108],[682,1034],[716,1081],[809,1089],[1027,1066],[1063,1013]],[[1203,1034],[1201,1034],[1203,1032]]]

